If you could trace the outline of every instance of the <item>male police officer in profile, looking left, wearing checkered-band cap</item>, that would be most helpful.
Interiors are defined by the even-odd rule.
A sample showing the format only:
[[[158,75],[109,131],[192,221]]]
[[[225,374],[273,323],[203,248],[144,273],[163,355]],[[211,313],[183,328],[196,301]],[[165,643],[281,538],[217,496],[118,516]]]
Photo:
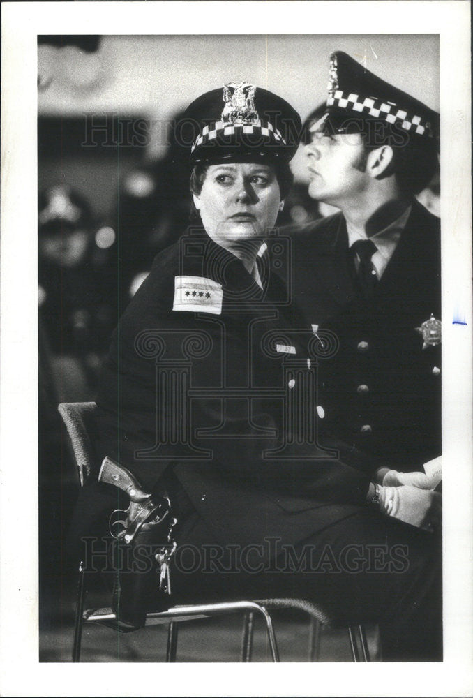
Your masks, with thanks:
[[[440,224],[414,199],[438,165],[439,117],[343,52],[314,113],[309,193],[341,213],[295,230],[293,291],[340,342],[320,365],[323,424],[384,466],[379,484],[430,489],[403,471],[441,448]]]

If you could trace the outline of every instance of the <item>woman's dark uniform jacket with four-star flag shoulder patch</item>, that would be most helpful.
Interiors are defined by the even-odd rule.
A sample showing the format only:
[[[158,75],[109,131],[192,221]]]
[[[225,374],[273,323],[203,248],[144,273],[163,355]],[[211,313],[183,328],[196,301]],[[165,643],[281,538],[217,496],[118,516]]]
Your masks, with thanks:
[[[223,544],[303,540],[365,507],[370,480],[364,463],[297,436],[311,371],[291,330],[301,319],[260,270],[264,290],[203,230],[160,253],[114,332],[97,399],[98,463],[112,456],[148,489],[172,473]]]

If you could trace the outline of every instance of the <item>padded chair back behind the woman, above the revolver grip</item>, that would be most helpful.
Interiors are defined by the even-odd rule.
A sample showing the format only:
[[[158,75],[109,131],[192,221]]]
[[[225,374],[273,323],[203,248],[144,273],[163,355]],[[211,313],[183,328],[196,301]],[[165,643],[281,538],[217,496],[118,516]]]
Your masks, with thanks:
[[[82,487],[94,461],[91,436],[97,433],[97,406],[95,402],[61,402],[57,409],[68,431]]]

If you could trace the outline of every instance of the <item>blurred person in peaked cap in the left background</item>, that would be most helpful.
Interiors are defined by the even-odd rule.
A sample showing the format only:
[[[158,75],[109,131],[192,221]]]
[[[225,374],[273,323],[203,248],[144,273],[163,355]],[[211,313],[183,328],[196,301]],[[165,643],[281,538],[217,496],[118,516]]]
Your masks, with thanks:
[[[60,399],[87,399],[117,319],[110,250],[114,231],[99,228],[72,188],[41,193],[38,305]]]

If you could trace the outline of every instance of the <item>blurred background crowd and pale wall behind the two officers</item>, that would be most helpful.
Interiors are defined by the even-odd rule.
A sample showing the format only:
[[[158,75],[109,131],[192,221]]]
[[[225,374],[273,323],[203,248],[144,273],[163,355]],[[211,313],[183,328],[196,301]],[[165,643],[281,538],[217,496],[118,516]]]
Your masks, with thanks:
[[[343,50],[439,109],[436,36],[41,36],[38,39],[40,592],[51,622],[75,479],[57,404],[93,400],[117,319],[154,256],[188,224],[175,124],[197,95],[247,80],[304,119]],[[416,61],[409,57],[416,53]],[[407,65],[409,70],[407,70]],[[307,193],[303,150],[278,224],[331,212]],[[437,175],[420,200],[440,215]],[[70,494],[70,496],[69,496]]]

